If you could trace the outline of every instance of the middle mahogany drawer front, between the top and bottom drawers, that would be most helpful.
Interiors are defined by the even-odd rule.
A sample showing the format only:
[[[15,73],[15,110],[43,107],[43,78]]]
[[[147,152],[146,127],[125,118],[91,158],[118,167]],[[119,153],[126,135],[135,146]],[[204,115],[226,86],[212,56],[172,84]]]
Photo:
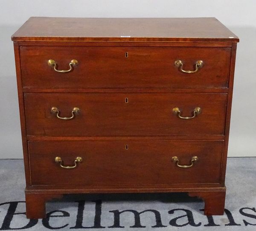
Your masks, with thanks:
[[[151,136],[224,134],[227,94],[25,93],[28,135]],[[127,102],[126,102],[127,101]],[[58,108],[57,118],[51,108]],[[73,113],[73,108],[79,113]],[[196,107],[201,113],[192,117]]]

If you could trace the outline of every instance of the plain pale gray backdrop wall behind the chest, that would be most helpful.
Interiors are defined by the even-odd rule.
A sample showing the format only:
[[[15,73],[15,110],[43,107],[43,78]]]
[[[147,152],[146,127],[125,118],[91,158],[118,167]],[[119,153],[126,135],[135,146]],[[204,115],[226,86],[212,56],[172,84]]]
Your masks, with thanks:
[[[0,0],[0,159],[22,158],[10,37],[31,16],[218,18],[240,38],[228,154],[256,156],[255,0]]]

